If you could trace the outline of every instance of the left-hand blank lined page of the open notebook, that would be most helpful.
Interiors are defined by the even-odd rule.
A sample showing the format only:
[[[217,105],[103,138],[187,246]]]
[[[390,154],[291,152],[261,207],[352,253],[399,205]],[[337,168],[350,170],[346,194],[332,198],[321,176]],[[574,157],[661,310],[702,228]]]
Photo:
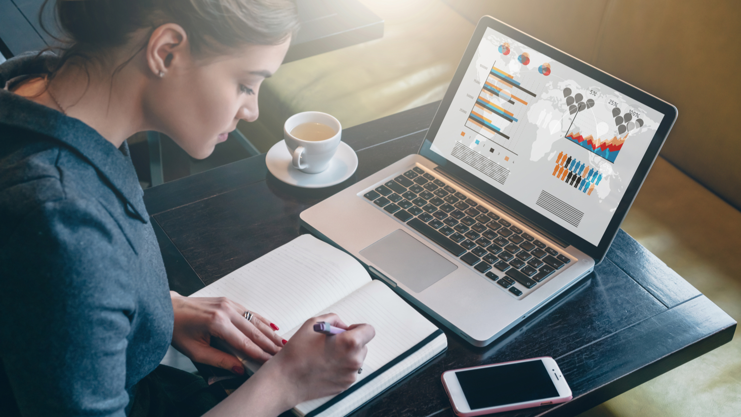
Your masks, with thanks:
[[[230,298],[277,324],[281,328],[277,333],[285,337],[369,281],[365,268],[352,256],[302,235],[191,297]]]

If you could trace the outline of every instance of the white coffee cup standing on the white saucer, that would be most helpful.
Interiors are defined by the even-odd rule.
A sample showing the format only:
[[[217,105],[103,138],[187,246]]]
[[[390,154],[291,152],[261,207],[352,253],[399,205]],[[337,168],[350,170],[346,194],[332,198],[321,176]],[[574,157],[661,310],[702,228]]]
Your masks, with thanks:
[[[305,141],[290,132],[304,123],[326,124],[334,130],[334,136],[322,141]],[[329,161],[342,139],[342,124],[333,116],[322,112],[302,112],[290,116],[283,125],[283,138],[288,152],[293,156],[293,167],[308,174],[321,173],[329,167]]]

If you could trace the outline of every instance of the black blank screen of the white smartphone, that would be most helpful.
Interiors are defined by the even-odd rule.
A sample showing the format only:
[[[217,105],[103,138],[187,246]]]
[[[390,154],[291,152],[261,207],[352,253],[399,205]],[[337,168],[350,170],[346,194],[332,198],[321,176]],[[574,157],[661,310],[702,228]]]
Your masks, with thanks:
[[[543,361],[456,372],[471,410],[558,396]]]

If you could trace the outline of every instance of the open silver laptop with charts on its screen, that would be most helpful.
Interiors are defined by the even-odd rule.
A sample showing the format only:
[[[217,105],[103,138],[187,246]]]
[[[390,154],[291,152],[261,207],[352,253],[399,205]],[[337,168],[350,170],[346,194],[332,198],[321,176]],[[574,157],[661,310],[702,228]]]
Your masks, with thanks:
[[[484,16],[419,153],[301,224],[485,346],[605,258],[676,119],[671,104]]]

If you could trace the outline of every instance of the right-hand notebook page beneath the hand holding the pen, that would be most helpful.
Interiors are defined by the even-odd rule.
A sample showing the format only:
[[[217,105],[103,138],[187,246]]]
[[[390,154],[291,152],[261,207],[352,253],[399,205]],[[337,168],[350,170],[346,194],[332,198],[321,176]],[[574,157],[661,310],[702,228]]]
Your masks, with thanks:
[[[376,330],[376,337],[368,342],[368,355],[365,356],[363,372],[356,383],[437,330],[427,318],[417,313],[393,290],[377,280],[365,284],[321,314],[324,313],[336,313],[348,325],[368,323]],[[290,338],[297,330],[298,327],[291,329],[284,337]],[[362,390],[365,390],[365,387],[360,389]],[[303,402],[296,406],[296,410],[306,414],[332,397]]]

